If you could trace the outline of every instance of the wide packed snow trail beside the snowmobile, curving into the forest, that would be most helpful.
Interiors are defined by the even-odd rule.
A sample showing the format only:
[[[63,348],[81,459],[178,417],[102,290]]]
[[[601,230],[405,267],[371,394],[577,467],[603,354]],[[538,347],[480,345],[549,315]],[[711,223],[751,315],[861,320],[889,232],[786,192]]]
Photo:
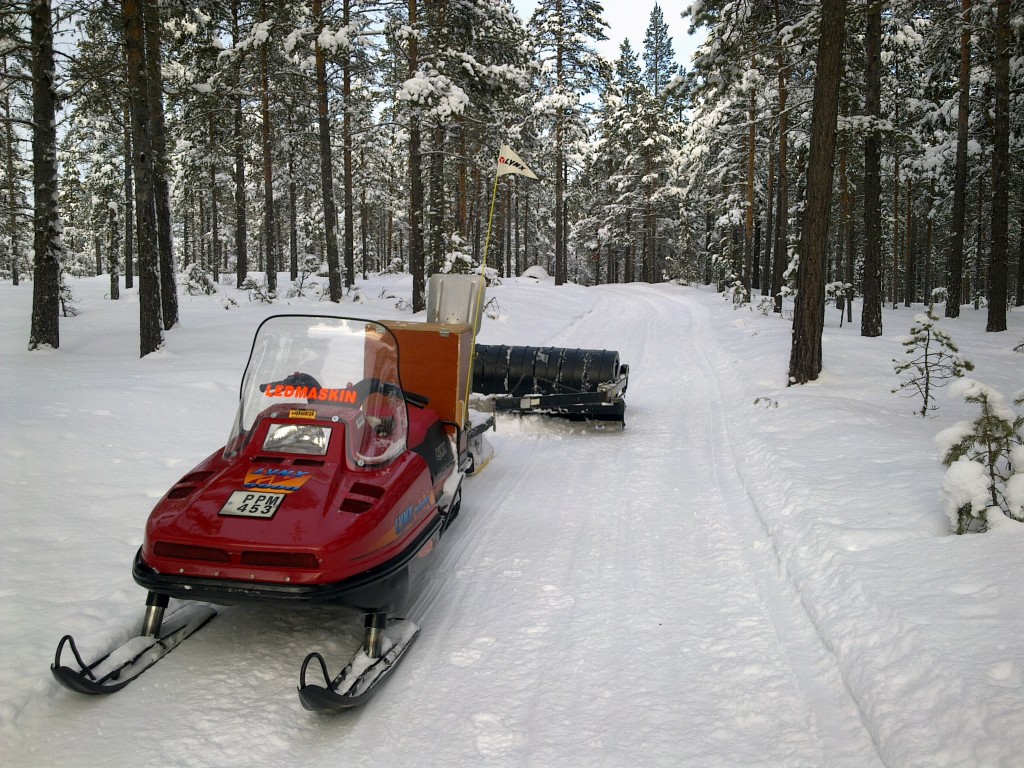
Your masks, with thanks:
[[[656,288],[592,290],[602,311],[537,343],[617,349],[626,430],[499,421],[346,751],[440,731],[417,765],[881,765],[737,474],[711,329]],[[531,482],[552,474],[557,496]]]

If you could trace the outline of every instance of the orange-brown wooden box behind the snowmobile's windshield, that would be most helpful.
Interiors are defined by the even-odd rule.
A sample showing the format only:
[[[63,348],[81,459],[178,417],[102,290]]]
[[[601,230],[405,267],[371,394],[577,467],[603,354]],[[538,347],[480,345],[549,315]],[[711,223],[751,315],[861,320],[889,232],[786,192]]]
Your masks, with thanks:
[[[472,370],[472,327],[455,323],[380,323],[398,340],[402,388],[429,397],[430,408],[441,419],[465,427]]]

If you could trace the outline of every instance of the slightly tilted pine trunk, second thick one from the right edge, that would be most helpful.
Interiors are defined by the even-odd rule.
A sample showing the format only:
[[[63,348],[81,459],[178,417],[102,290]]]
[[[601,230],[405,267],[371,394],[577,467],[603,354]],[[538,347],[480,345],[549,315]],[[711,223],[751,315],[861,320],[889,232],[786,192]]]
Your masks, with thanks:
[[[959,108],[956,113],[956,165],[953,173],[953,220],[946,256],[946,316],[959,317],[964,303],[964,228],[967,223],[967,140],[971,115],[971,0],[961,5]]]

